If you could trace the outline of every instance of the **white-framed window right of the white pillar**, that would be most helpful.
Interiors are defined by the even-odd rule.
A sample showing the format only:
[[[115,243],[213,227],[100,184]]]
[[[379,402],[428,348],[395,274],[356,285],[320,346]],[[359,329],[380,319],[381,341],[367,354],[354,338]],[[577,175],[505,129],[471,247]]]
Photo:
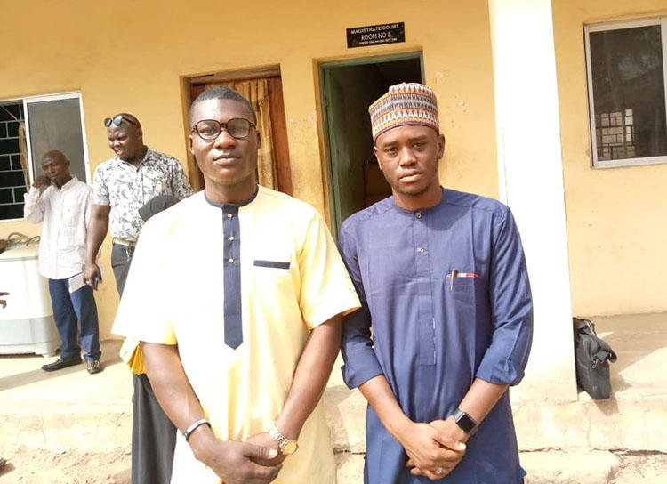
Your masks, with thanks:
[[[593,166],[667,163],[667,20],[584,28]]]

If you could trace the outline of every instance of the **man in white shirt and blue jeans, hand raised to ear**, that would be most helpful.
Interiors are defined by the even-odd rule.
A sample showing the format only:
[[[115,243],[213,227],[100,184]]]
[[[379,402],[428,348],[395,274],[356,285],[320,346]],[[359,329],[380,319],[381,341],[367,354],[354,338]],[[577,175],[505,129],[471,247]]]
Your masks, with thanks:
[[[25,195],[23,215],[28,222],[44,222],[39,243],[39,272],[49,279],[49,293],[60,345],[60,358],[44,365],[54,371],[81,363],[79,338],[88,373],[101,370],[100,327],[92,287],[69,292],[68,278],[82,271],[85,235],[91,216],[92,190],[69,173],[69,161],[58,150],[42,157],[44,174]],[[80,335],[77,320],[81,324]]]

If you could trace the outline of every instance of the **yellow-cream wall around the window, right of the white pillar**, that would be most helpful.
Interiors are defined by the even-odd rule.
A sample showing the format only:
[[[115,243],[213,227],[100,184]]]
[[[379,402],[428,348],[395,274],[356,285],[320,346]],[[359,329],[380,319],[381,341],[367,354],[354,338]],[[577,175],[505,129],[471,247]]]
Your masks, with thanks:
[[[667,311],[667,165],[591,168],[583,45],[583,24],[667,15],[667,2],[553,0],[552,9],[573,312]]]

